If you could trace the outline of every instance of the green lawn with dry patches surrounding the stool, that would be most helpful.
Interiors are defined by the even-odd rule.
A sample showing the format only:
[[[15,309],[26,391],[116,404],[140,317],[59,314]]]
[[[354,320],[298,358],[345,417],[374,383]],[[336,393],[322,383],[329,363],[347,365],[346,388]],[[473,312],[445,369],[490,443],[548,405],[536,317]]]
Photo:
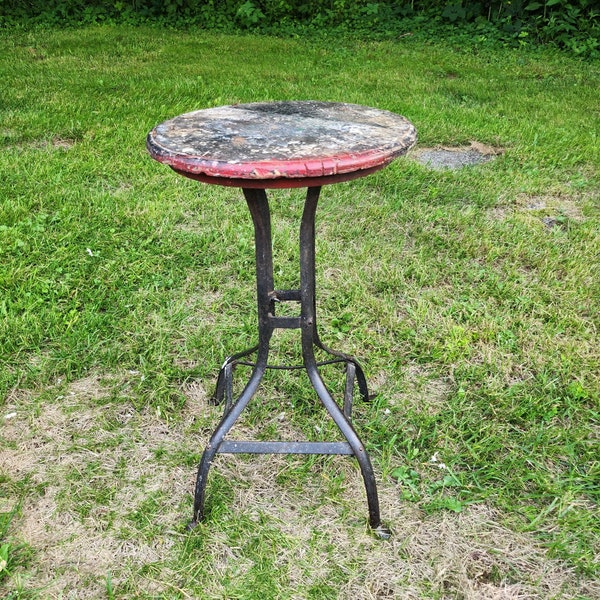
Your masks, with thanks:
[[[0,56],[7,597],[598,597],[597,64],[126,27],[5,33]],[[378,393],[355,422],[389,543],[331,457],[218,457],[208,521],[184,529],[207,394],[254,342],[252,231],[239,190],[175,176],[145,135],[291,98],[399,112],[422,147],[504,150],[323,190],[320,326]],[[303,199],[272,198],[294,287]],[[334,433],[297,373],[259,396],[240,435]]]

